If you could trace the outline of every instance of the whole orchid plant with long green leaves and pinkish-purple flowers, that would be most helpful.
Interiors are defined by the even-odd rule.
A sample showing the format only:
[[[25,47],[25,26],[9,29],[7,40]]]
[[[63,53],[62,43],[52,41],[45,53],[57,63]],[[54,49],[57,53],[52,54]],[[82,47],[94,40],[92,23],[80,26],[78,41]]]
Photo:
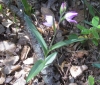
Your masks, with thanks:
[[[77,12],[66,12],[66,3],[62,3],[61,7],[60,7],[60,20],[59,23],[66,19],[68,22],[70,23],[76,23],[76,20],[73,20],[74,17],[76,17],[78,15]],[[66,13],[65,13],[66,12]],[[65,15],[63,16],[63,14],[65,13]],[[55,35],[56,35],[56,28],[55,28],[55,19],[53,16],[50,15],[46,15],[45,16],[46,22],[43,22],[43,24],[45,26],[51,27],[53,26],[55,29],[55,33],[54,33],[54,37],[51,41],[50,46],[48,47],[45,40],[43,39],[42,35],[38,32],[38,30],[36,29],[36,27],[33,25],[32,21],[29,19],[29,17],[26,15],[25,16],[25,21],[27,22],[30,30],[33,32],[33,34],[35,35],[35,37],[37,38],[38,42],[40,43],[42,50],[44,52],[44,60],[38,60],[32,67],[31,71],[29,72],[29,75],[26,79],[26,81],[30,81],[33,77],[35,77],[36,75],[38,75],[39,72],[41,72],[41,70],[45,69],[47,66],[49,66],[54,59],[57,57],[57,52],[54,52],[53,50],[60,48],[62,46],[65,45],[69,45],[71,43],[74,42],[78,42],[78,41],[83,41],[84,39],[69,39],[69,40],[64,40],[64,41],[60,41],[57,42],[55,44],[53,44],[53,41],[55,39]],[[58,24],[59,25],[59,24]],[[51,52],[53,51],[53,53]]]

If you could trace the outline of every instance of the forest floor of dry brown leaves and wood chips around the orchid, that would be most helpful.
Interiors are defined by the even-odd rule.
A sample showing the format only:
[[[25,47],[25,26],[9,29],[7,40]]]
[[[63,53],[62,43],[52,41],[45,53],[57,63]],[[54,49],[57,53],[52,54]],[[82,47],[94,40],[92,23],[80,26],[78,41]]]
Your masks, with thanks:
[[[100,63],[100,44],[95,46],[91,41],[77,42],[57,49],[57,58],[49,66],[53,70],[53,74],[50,73],[51,71],[46,74],[53,76],[52,81],[48,84],[45,84],[41,73],[26,83],[26,77],[38,58],[35,56],[30,35],[25,30],[21,18],[16,16],[9,6],[1,3],[2,1],[0,1],[3,6],[3,10],[0,12],[0,85],[89,85],[88,77],[90,75],[95,79],[94,85],[100,85],[100,66],[99,68],[94,66]],[[84,25],[84,20],[92,19],[82,0],[64,1],[67,3],[67,11],[78,13],[78,16],[75,17],[78,24]],[[98,0],[88,1],[100,12]],[[11,5],[18,8],[16,2],[17,0],[12,0]],[[31,15],[33,24],[48,45],[50,45],[54,30],[53,27],[43,25],[45,15],[53,14],[57,24],[62,2],[63,0],[28,0],[28,3],[34,8],[34,13]],[[60,23],[54,43],[67,40],[70,34],[79,33],[76,24],[64,20]],[[81,73],[79,73],[80,68],[83,69]]]

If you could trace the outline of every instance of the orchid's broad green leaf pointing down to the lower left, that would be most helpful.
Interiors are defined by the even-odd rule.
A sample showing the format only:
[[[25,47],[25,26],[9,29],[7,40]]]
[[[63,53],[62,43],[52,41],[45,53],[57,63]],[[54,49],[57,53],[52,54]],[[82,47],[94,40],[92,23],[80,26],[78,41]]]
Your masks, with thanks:
[[[33,65],[31,71],[29,72],[26,82],[30,81],[32,78],[34,78],[36,75],[38,75],[39,72],[44,68],[44,66],[45,66],[45,62],[43,60],[38,60]]]

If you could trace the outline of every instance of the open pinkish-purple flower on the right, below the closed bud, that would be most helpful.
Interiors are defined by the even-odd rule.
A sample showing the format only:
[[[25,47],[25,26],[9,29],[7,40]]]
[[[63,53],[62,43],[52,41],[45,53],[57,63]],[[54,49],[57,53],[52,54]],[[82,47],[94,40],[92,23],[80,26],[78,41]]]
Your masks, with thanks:
[[[73,20],[74,17],[76,17],[78,15],[77,12],[67,12],[64,16],[64,18],[68,21],[68,22],[72,22],[72,23],[76,23],[77,24],[77,21],[76,20]]]

